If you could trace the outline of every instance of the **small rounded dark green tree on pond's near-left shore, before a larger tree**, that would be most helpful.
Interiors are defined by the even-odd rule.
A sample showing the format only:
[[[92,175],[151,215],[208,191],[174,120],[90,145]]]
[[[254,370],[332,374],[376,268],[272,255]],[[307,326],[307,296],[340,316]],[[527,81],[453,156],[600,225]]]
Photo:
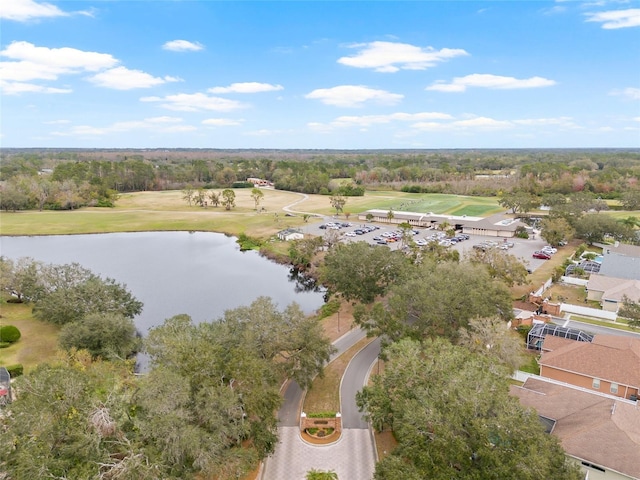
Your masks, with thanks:
[[[114,313],[92,313],[60,330],[60,346],[65,350],[87,350],[94,358],[130,358],[140,349],[140,337],[133,320]]]

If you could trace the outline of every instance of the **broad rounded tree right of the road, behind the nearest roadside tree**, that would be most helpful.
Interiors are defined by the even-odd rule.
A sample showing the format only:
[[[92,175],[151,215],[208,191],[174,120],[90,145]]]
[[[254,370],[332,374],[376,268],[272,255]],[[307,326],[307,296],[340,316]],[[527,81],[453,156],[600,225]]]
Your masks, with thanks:
[[[357,324],[387,342],[404,337],[456,339],[472,318],[508,320],[512,315],[509,291],[484,266],[429,259],[393,283],[385,304],[354,311]]]

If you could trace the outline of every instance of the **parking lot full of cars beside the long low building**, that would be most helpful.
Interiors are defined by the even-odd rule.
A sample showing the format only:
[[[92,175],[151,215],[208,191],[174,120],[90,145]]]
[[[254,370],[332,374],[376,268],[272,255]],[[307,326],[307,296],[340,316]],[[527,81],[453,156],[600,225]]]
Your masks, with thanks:
[[[338,235],[342,242],[367,242],[370,245],[388,247],[392,250],[400,248],[402,242],[399,241],[401,234],[396,224],[362,223],[359,221],[349,221],[327,217],[324,222],[309,224],[303,228],[304,233],[311,235],[325,236]],[[331,232],[331,233],[327,233]],[[430,241],[442,242],[446,248],[454,248],[463,256],[473,249],[474,245],[484,244],[486,248],[501,248],[506,253],[521,259],[525,266],[534,271],[547,260],[533,258],[533,253],[542,249],[546,242],[536,235],[535,238],[499,238],[484,235],[466,235],[466,239],[461,239],[455,243],[450,243],[449,237],[444,232],[414,227],[412,239],[416,244],[426,244]],[[459,233],[456,236],[460,236]],[[488,243],[488,245],[487,245]]]

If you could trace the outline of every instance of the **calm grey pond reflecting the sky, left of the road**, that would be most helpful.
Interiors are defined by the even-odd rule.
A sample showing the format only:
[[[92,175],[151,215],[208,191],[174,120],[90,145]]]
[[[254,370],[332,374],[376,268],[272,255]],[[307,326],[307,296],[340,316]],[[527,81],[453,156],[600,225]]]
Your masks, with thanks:
[[[204,232],[113,233],[0,237],[0,254],[45,263],[77,262],[127,286],[144,303],[135,322],[143,335],[165,319],[186,313],[196,322],[217,320],[225,310],[271,297],[283,309],[292,302],[312,313],[320,292],[299,292],[289,268],[256,252],[241,252],[235,238]]]

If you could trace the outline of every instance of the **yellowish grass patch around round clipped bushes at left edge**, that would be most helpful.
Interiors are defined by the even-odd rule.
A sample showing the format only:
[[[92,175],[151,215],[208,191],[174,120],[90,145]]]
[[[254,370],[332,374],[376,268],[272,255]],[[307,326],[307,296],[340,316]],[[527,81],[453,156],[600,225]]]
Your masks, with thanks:
[[[41,363],[50,361],[58,350],[59,327],[33,318],[31,305],[0,304],[0,325],[14,325],[21,337],[7,348],[0,348],[0,365],[21,363],[28,373]]]

